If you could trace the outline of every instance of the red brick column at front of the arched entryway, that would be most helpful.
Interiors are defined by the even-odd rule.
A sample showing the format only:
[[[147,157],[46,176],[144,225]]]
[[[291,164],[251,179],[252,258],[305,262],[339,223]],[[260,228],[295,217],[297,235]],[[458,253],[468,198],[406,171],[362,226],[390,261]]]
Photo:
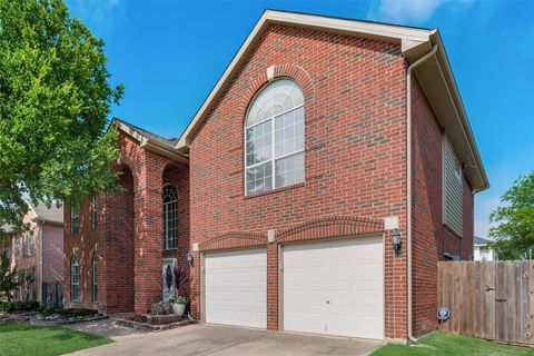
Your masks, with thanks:
[[[135,310],[148,313],[154,303],[161,300],[162,165],[149,151],[142,151],[140,160],[135,198]]]

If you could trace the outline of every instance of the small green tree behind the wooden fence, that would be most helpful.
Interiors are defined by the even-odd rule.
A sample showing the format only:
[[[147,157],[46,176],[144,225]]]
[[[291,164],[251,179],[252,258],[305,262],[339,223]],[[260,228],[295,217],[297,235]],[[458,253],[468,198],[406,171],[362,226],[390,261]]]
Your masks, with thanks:
[[[501,198],[490,220],[498,226],[490,230],[501,259],[521,259],[534,249],[534,171],[520,177]]]

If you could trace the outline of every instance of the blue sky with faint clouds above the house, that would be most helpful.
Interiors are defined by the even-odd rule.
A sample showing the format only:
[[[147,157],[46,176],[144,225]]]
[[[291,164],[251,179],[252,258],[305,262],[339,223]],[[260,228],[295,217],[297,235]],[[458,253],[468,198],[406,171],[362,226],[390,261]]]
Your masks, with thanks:
[[[68,0],[106,42],[112,116],[179,137],[265,9],[438,28],[490,178],[475,196],[475,234],[534,169],[534,1]]]

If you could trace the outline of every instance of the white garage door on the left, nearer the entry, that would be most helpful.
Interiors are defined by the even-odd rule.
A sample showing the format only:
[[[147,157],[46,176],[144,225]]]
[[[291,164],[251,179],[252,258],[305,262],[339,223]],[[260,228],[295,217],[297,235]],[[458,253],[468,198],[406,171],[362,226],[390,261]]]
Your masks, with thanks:
[[[265,248],[206,254],[205,270],[206,323],[267,327]]]

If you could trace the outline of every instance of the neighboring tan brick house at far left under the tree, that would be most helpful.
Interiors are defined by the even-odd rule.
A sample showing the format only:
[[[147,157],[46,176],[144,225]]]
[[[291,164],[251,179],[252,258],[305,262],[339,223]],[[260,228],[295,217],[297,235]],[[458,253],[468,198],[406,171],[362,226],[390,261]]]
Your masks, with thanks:
[[[8,251],[11,266],[20,274],[30,274],[34,283],[14,290],[14,299],[47,301],[42,287],[58,284],[59,293],[63,280],[63,209],[44,204],[33,205],[27,200],[28,212],[22,219],[28,230],[17,231],[12,227],[2,229],[6,237],[0,240],[0,250]],[[59,297],[60,299],[60,297]],[[59,301],[59,300],[56,300]]]

